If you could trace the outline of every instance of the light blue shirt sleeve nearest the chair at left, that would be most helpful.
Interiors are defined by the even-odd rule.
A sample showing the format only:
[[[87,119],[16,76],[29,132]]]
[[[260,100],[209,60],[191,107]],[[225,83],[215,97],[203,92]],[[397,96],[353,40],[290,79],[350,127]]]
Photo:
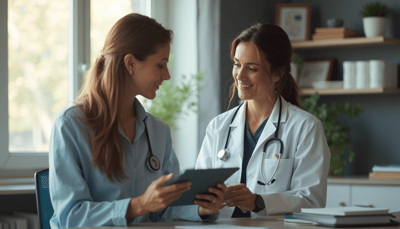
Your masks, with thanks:
[[[54,122],[49,145],[49,192],[58,227],[126,225],[130,198],[94,202],[83,178],[78,133],[84,130],[63,116]]]

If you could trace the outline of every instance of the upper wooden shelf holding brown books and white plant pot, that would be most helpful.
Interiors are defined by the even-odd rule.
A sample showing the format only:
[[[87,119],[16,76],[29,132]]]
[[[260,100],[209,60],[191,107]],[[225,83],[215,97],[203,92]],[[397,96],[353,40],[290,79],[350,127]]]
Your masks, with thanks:
[[[365,38],[343,38],[319,41],[293,41],[293,50],[328,49],[328,48],[348,48],[348,47],[370,47],[370,46],[396,46],[400,45],[400,39],[385,38],[383,36]]]

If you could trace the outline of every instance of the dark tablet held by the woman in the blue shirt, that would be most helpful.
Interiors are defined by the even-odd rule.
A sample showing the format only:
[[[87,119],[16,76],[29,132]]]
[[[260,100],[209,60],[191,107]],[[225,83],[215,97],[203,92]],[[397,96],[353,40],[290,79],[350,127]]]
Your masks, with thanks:
[[[239,168],[213,168],[185,170],[173,180],[171,184],[191,181],[191,187],[188,191],[183,192],[177,200],[169,203],[168,207],[194,205],[193,201],[197,193],[210,193],[208,192],[208,187],[216,187],[217,183],[223,183],[238,169]]]

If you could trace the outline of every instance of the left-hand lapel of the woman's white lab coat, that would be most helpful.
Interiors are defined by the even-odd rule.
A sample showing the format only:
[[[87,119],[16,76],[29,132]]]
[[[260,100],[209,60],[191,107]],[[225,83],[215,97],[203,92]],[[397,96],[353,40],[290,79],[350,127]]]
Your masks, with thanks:
[[[243,105],[240,106],[239,110],[236,113],[235,118],[233,119],[231,127],[231,142],[229,145],[234,146],[233,150],[228,150],[229,153],[239,153],[240,158],[243,159],[243,141],[244,141],[244,122],[246,118],[246,104],[247,101],[244,102]]]

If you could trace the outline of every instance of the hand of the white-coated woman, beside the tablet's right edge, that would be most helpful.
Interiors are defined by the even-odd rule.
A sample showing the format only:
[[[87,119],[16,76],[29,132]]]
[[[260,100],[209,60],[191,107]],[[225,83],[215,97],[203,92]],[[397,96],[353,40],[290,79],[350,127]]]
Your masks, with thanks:
[[[256,195],[245,184],[232,185],[226,188],[225,203],[228,207],[239,207],[251,211],[255,208]]]

